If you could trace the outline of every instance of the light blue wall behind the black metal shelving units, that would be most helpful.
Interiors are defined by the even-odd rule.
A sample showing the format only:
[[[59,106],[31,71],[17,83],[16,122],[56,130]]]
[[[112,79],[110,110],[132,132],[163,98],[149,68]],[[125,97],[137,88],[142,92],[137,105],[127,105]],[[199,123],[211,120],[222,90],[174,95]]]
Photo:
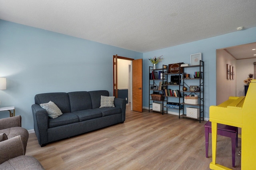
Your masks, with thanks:
[[[146,52],[143,54],[143,82],[148,84],[148,66],[152,66],[148,58],[161,56],[164,60],[160,63],[168,65],[177,62],[190,64],[190,54],[202,53],[204,61],[204,117],[209,118],[209,107],[216,105],[216,49],[237,46],[256,42],[256,27],[236,31],[222,36],[207,38],[178,46]],[[225,64],[226,63],[218,63]],[[223,74],[226,74],[223,73]],[[148,107],[148,86],[143,87],[143,106]],[[175,102],[175,101],[174,101]]]

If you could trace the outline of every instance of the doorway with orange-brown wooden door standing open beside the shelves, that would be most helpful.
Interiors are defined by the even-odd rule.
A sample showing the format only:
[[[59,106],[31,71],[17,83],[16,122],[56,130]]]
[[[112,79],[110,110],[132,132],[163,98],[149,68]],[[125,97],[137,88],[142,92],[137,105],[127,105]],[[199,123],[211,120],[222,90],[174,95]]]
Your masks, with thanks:
[[[113,56],[113,95],[142,112],[142,59]]]

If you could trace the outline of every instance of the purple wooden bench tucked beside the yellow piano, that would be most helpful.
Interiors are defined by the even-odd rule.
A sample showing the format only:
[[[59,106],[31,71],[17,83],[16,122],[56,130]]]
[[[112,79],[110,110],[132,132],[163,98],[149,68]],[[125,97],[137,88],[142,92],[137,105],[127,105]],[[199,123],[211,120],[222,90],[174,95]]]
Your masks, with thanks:
[[[231,138],[232,146],[232,166],[235,167],[236,147],[238,147],[238,128],[224,124],[217,124],[217,134]],[[208,121],[204,125],[205,132],[205,152],[208,158],[209,133],[212,133],[212,122]]]

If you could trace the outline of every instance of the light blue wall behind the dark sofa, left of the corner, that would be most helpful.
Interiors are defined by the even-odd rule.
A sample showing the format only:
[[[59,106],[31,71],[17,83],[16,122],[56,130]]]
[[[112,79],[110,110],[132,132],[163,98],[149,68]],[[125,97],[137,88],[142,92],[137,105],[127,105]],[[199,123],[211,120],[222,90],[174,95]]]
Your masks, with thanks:
[[[22,126],[34,129],[31,105],[45,92],[108,90],[112,56],[139,59],[142,53],[0,20],[1,107],[15,106]],[[0,112],[0,118],[9,112]]]

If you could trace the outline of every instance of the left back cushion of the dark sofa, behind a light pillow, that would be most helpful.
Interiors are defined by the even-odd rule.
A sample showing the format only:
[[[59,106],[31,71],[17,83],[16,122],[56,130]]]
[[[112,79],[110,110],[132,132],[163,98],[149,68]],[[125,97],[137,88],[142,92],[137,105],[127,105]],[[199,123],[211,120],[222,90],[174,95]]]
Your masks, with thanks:
[[[35,96],[35,104],[42,104],[48,102],[54,102],[58,108],[60,108],[62,113],[70,112],[70,102],[67,93],[64,92],[56,92],[56,93],[42,93],[36,94]]]

